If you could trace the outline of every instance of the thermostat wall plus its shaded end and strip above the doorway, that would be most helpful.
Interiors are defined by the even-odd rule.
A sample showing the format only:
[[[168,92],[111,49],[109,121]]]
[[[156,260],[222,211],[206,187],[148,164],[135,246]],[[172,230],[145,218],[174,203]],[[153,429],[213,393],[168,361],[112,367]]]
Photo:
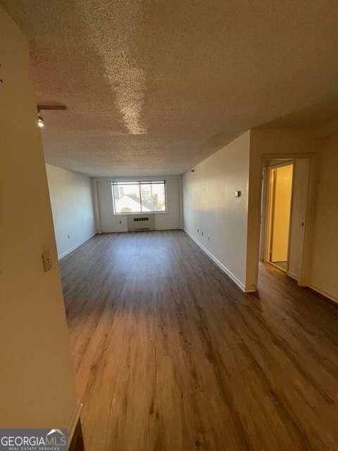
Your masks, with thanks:
[[[184,228],[246,291],[257,288],[262,157],[295,158],[311,152],[307,130],[255,129],[202,161],[195,173],[184,174]],[[230,197],[235,190],[242,190],[242,202]],[[210,205],[206,192],[211,193]],[[224,193],[227,197],[220,198]],[[203,237],[197,228],[206,229]],[[215,233],[210,241],[208,230]]]

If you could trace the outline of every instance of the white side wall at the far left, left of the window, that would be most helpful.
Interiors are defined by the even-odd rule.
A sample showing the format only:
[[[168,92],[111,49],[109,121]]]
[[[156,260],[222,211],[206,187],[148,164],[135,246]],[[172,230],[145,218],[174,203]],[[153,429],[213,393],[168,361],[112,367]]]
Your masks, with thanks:
[[[92,181],[87,175],[46,164],[58,257],[95,235]]]

